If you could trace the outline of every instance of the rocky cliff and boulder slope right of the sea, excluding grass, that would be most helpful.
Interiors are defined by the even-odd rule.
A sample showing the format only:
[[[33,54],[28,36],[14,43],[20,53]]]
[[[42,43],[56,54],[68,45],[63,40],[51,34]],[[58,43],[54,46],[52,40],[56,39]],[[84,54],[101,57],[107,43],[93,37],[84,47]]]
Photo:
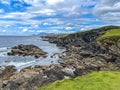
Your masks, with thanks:
[[[59,62],[62,66],[75,68],[77,76],[96,70],[120,70],[120,37],[117,37],[117,40],[114,36],[99,39],[106,32],[119,28],[106,26],[85,32],[48,37],[48,40],[67,48],[66,56],[62,56]]]

